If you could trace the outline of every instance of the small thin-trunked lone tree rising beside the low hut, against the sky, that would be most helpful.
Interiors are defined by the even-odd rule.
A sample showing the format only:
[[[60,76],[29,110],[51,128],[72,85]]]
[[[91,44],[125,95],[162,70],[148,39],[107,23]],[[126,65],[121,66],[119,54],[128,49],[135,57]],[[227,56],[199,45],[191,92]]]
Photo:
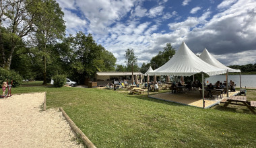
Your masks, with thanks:
[[[125,59],[127,60],[127,61],[125,61],[126,65],[127,65],[127,69],[129,69],[129,67],[131,67],[131,82],[134,83],[133,65],[137,65],[137,57],[135,56],[133,49],[127,48],[127,50],[125,51]]]

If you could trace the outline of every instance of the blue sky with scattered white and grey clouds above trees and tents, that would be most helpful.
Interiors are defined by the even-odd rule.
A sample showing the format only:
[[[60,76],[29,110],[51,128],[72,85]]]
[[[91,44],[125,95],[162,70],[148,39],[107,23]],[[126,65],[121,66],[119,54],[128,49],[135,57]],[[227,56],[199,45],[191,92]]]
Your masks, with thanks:
[[[256,0],[57,0],[67,34],[92,34],[125,65],[133,48],[139,66],[166,43],[184,40],[195,53],[204,48],[224,65],[256,63]]]

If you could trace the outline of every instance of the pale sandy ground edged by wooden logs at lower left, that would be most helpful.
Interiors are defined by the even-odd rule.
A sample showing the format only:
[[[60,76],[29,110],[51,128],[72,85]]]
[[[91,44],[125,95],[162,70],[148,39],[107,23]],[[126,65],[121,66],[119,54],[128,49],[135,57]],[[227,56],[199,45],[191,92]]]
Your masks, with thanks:
[[[0,99],[0,147],[84,147],[57,109],[42,111],[44,93]]]

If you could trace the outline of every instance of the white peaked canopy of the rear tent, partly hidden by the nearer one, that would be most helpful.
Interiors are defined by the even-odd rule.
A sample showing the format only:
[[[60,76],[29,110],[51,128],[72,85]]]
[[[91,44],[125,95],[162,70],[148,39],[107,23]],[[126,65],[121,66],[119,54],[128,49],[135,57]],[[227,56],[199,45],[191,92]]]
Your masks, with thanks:
[[[241,72],[240,69],[231,69],[230,67],[226,67],[222,63],[220,63],[217,59],[215,59],[210,52],[206,48],[204,48],[203,52],[201,52],[201,55],[199,56],[200,59],[205,61],[206,63],[213,65],[215,67],[218,67],[220,69],[227,69],[228,72]]]

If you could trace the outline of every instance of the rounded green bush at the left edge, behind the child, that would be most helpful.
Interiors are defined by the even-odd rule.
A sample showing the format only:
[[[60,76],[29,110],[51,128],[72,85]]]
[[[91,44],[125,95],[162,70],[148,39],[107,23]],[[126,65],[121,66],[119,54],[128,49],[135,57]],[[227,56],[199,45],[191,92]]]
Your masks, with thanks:
[[[3,69],[0,67],[0,83],[4,81],[8,81],[8,84],[11,84],[11,80],[13,80],[13,85],[12,87],[19,87],[23,81],[22,81],[22,76],[20,76],[18,73],[15,71]]]

